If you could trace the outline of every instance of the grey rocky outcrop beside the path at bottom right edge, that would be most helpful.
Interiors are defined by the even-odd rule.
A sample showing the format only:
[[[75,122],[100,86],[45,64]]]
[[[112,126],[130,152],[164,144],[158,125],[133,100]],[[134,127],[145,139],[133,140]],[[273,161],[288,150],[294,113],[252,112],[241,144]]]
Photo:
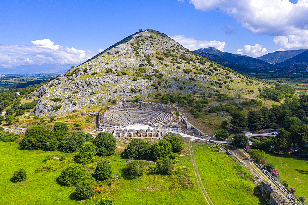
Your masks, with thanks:
[[[269,205],[291,205],[280,191],[268,181],[262,181],[259,186],[262,196]]]

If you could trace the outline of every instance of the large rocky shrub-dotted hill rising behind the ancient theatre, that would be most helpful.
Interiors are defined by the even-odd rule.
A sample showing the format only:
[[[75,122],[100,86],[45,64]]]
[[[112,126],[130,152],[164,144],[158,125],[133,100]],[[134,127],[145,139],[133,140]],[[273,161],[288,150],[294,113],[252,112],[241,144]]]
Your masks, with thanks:
[[[110,102],[151,101],[155,94],[167,93],[220,92],[235,97],[240,90],[250,85],[257,89],[259,84],[148,29],[124,38],[42,86],[36,92],[40,98],[34,112],[61,115]]]

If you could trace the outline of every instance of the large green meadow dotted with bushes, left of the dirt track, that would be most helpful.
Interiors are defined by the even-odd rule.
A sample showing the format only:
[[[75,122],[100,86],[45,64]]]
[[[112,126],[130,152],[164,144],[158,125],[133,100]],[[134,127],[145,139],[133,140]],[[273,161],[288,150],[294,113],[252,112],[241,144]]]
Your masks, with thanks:
[[[117,204],[205,204],[188,158],[183,157],[177,166],[185,167],[195,186],[184,189],[176,175],[148,175],[137,179],[127,178],[124,174],[125,159],[119,154],[106,157],[110,161],[114,174],[120,179],[108,186],[104,183],[104,191],[84,202],[74,200],[74,187],[63,187],[56,182],[62,169],[54,172],[34,172],[44,164],[47,155],[63,155],[62,152],[43,152],[19,150],[17,143],[0,142],[0,196],[1,204],[97,204],[99,199],[109,197]],[[73,155],[73,154],[71,154]],[[100,158],[102,159],[102,158]],[[27,179],[20,183],[12,183],[10,178],[15,170],[26,168]],[[95,164],[86,166],[93,172]]]

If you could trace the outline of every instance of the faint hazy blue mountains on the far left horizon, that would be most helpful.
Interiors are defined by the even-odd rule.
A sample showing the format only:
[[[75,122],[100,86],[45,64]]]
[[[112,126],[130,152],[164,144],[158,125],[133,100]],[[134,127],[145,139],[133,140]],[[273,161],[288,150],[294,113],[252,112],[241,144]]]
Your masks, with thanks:
[[[0,74],[36,74],[36,73],[64,73],[71,69],[73,64],[66,65],[53,65],[53,64],[42,64],[42,65],[18,65],[12,67],[0,66]]]

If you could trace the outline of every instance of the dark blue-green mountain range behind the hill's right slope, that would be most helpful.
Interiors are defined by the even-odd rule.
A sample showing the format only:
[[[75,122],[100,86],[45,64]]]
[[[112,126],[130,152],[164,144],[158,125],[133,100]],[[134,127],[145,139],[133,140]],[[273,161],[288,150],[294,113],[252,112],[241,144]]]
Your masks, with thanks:
[[[257,58],[222,52],[214,47],[193,51],[223,66],[244,73],[308,74],[308,49],[276,51]]]

